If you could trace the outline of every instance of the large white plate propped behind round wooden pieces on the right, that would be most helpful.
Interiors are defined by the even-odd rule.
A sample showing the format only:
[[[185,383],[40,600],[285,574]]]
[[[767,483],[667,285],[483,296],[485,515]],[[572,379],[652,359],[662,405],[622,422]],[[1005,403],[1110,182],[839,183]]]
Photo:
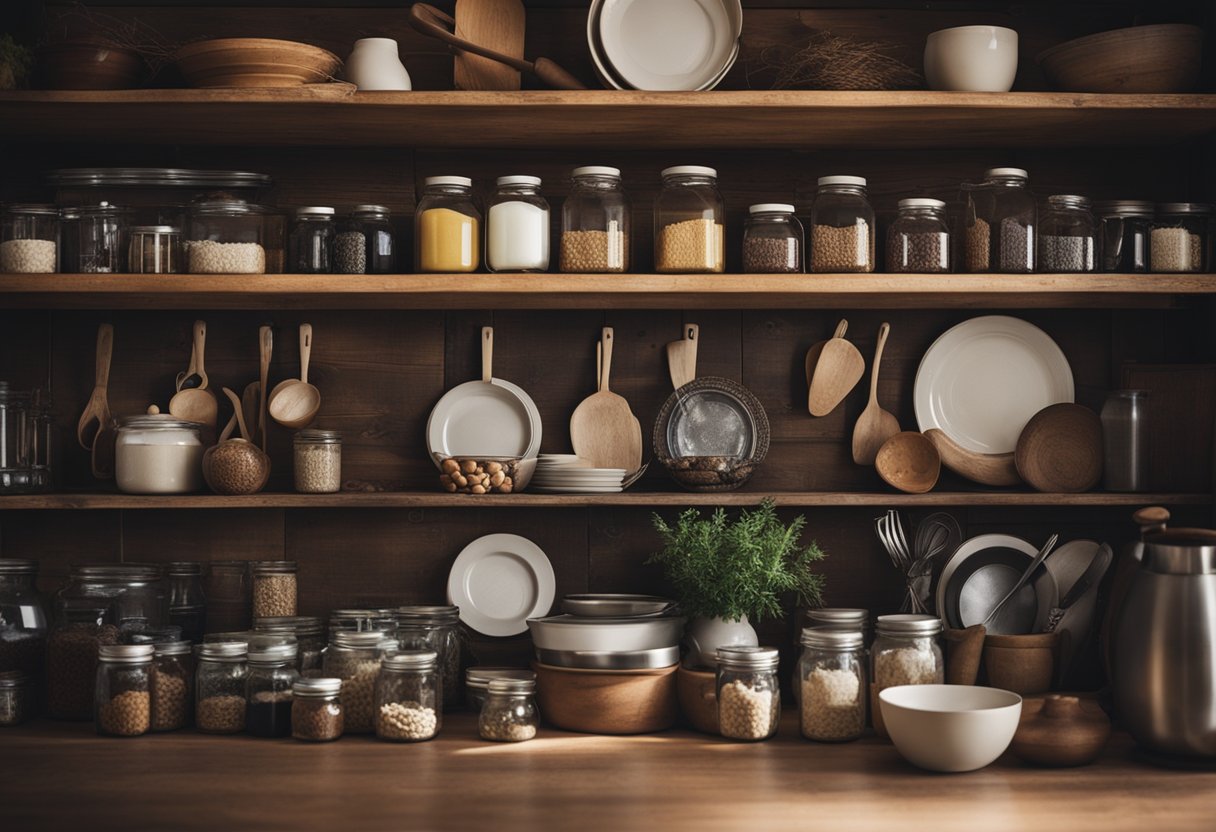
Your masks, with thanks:
[[[1051,336],[1019,317],[985,315],[933,342],[916,373],[916,420],[969,451],[1008,454],[1030,417],[1073,401],[1073,369]]]

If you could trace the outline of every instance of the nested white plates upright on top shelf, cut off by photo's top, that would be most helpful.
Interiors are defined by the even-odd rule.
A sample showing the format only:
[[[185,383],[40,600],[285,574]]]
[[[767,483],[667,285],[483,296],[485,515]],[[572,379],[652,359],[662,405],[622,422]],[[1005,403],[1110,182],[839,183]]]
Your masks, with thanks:
[[[604,0],[599,36],[609,78],[638,90],[708,89],[738,54],[732,5],[738,4]]]

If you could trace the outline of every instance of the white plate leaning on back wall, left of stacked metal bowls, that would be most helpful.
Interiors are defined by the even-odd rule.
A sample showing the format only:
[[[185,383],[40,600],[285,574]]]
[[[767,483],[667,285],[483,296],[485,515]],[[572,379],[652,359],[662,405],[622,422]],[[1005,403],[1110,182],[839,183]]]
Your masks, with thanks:
[[[553,564],[518,534],[478,538],[447,574],[447,602],[460,607],[462,622],[488,636],[524,633],[529,618],[548,614],[556,591]]]

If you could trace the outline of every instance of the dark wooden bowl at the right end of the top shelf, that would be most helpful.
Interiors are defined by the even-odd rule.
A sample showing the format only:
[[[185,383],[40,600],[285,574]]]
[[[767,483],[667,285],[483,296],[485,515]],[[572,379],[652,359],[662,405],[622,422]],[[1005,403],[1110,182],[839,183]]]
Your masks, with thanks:
[[[1189,92],[1199,81],[1204,30],[1166,23],[1102,32],[1035,58],[1069,92]]]

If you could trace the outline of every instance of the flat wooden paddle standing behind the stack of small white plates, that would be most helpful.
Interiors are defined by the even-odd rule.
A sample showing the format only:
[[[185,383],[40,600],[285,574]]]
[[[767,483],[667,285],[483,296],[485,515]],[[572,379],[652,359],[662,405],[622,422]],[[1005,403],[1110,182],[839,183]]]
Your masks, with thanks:
[[[596,468],[642,467],[642,428],[629,401],[608,389],[612,375],[610,326],[603,328],[603,376],[599,389],[582,400],[570,416],[570,444],[574,452]]]

